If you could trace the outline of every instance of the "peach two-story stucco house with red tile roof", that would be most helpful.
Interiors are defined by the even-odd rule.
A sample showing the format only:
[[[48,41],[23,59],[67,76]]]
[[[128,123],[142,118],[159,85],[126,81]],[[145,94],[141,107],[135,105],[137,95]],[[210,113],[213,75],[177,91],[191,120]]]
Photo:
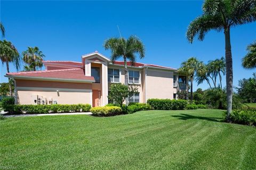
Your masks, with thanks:
[[[111,83],[124,84],[124,62],[112,63],[95,51],[82,56],[82,62],[43,61],[43,71],[11,72],[14,79],[15,104],[78,104],[105,106]],[[129,84],[138,93],[129,102],[145,103],[147,99],[177,99],[179,90],[187,90],[187,77],[177,69],[127,62]]]

